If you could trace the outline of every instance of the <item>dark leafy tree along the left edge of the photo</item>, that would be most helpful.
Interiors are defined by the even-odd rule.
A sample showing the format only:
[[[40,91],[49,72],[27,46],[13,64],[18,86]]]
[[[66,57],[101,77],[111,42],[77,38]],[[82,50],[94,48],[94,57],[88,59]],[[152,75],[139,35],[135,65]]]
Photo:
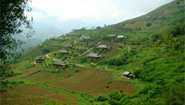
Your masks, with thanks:
[[[4,78],[11,76],[6,62],[15,53],[21,41],[13,38],[13,35],[23,32],[23,28],[31,29],[31,21],[25,12],[30,12],[29,0],[0,0],[0,86],[6,86]],[[28,35],[27,35],[28,36]]]

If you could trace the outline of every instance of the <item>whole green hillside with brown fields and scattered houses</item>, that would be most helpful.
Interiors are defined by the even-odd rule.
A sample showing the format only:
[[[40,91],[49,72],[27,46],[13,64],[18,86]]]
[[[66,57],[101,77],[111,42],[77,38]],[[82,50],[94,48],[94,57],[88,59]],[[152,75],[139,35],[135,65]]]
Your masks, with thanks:
[[[2,88],[0,101],[183,105],[184,27],[184,1],[176,0],[131,20],[47,39],[10,62],[11,88]],[[55,67],[59,60],[63,66]]]

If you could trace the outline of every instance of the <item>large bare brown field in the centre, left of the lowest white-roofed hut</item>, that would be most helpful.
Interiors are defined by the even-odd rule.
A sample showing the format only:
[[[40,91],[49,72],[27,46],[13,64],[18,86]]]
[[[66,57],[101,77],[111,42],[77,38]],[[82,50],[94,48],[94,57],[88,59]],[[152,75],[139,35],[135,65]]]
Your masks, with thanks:
[[[72,91],[90,93],[95,96],[99,94],[108,96],[108,93],[112,90],[123,91],[123,93],[129,95],[134,95],[137,91],[134,85],[127,81],[113,81],[110,85],[106,84],[112,80],[112,72],[83,68],[74,76],[49,84]],[[109,88],[106,88],[107,86]]]

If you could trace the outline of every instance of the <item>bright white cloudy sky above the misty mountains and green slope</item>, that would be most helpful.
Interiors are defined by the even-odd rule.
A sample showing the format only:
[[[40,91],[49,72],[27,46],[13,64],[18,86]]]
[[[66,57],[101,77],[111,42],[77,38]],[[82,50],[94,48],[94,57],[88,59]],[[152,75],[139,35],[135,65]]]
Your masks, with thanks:
[[[144,15],[172,0],[32,0],[34,22],[69,30],[115,24]],[[67,23],[71,24],[70,27]],[[81,25],[80,25],[81,24]],[[85,26],[83,26],[85,25]],[[71,29],[70,29],[71,28]],[[62,30],[64,31],[64,30]],[[65,31],[64,31],[65,32]]]

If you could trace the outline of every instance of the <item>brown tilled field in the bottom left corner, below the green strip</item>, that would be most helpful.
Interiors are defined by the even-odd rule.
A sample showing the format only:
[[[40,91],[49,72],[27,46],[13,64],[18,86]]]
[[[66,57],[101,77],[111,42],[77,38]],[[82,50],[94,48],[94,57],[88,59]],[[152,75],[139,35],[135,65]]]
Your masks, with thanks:
[[[48,90],[38,86],[24,85],[13,88],[6,88],[7,93],[1,94],[1,105],[35,105],[42,104],[47,101],[56,101],[60,103],[71,103],[77,105],[79,103],[75,98],[56,91]]]

